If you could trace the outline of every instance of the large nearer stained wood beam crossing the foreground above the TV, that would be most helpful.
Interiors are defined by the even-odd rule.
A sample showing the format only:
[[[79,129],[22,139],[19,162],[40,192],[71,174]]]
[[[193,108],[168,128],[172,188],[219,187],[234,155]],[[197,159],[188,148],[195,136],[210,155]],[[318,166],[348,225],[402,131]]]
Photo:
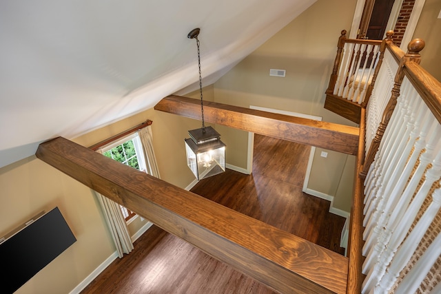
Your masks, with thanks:
[[[280,293],[345,293],[342,255],[91,149],[55,138],[37,158]]]

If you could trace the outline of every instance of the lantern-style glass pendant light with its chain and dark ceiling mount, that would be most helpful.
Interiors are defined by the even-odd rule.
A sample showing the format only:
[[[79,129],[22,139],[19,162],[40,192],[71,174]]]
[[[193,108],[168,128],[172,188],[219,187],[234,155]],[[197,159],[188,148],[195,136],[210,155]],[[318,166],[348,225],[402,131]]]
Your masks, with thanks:
[[[196,39],[198,46],[199,65],[199,88],[201,92],[201,129],[188,131],[190,138],[185,139],[185,151],[187,153],[187,165],[193,171],[198,180],[214,176],[225,171],[225,144],[220,140],[220,135],[212,127],[205,127],[204,107],[202,96],[201,77],[201,51],[199,48],[198,35],[201,30],[196,28],[188,33],[189,39]]]

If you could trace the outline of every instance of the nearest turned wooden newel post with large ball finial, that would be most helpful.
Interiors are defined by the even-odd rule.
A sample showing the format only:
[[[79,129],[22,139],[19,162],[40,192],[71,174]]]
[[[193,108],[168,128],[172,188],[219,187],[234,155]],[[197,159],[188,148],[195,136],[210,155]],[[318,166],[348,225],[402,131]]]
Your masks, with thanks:
[[[391,98],[384,109],[380,125],[378,126],[376,135],[372,140],[371,147],[369,148],[365,158],[365,164],[363,165],[362,172],[360,173],[360,176],[362,177],[366,177],[367,172],[369,171],[369,167],[375,158],[378,147],[380,147],[384,131],[386,130],[387,124],[389,123],[389,120],[393,114],[393,110],[396,107],[397,98],[400,96],[401,83],[404,78],[404,62],[413,61],[419,64],[421,61],[420,51],[424,48],[424,45],[425,42],[421,39],[413,39],[409,45],[407,45],[407,53],[401,59],[400,66],[398,67],[398,71],[394,79]]]

